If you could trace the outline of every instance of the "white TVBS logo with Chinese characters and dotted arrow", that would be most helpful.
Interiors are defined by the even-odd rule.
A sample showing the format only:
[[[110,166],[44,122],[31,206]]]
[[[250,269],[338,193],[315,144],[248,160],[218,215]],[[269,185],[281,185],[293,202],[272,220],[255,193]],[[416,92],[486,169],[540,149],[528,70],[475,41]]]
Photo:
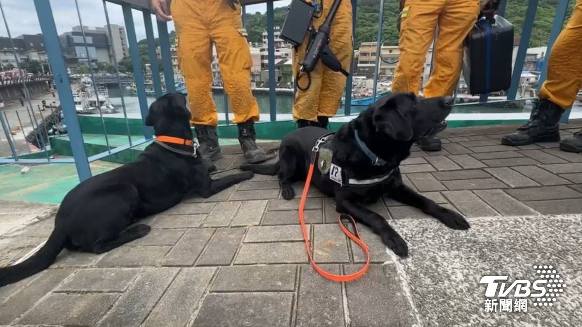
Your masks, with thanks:
[[[509,276],[483,276],[480,283],[487,284],[485,311],[496,312],[499,305],[500,312],[526,312],[527,298],[531,298],[534,306],[553,306],[566,287],[564,280],[560,279],[560,275],[551,265],[535,265],[533,268],[540,278],[516,279],[510,282]],[[511,299],[506,299],[508,296],[516,298],[515,305]]]

